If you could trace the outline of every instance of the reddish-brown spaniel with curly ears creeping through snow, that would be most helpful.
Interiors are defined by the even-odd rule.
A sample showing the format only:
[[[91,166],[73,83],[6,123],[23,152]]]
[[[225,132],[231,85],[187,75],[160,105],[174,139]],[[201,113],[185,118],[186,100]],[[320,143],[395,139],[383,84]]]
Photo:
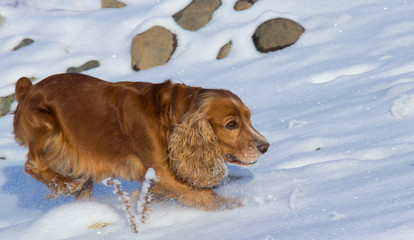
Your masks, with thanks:
[[[59,195],[90,199],[94,181],[145,180],[151,191],[205,210],[242,206],[214,192],[226,163],[252,165],[269,149],[239,97],[167,80],[110,83],[57,74],[16,83],[14,134],[28,148],[25,172]]]

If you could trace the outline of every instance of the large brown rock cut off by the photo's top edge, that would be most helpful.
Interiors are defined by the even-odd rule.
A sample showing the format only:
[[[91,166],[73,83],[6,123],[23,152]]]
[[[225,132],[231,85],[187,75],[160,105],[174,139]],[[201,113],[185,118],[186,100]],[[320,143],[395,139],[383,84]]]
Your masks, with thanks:
[[[204,27],[221,5],[220,0],[193,0],[187,7],[174,14],[175,22],[182,28],[196,31]]]

